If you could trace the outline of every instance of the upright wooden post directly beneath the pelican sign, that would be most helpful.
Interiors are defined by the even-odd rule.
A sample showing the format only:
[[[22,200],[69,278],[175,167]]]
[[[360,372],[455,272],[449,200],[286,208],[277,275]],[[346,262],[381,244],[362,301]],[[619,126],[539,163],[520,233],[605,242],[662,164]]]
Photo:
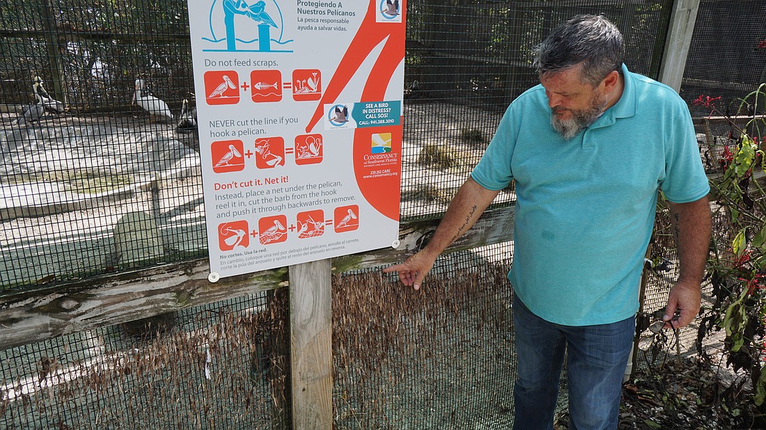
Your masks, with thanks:
[[[330,260],[290,266],[293,428],[332,428]]]

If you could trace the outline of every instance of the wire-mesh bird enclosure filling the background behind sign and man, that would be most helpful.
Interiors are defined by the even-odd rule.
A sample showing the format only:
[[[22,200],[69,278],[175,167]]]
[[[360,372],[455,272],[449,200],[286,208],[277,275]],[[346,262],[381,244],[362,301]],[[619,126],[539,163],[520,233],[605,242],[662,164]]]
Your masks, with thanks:
[[[766,51],[755,46],[766,34],[738,18],[763,22],[766,7],[745,0],[410,0],[407,7],[405,245],[331,262],[332,426],[508,428],[513,187],[440,257],[420,291],[381,267],[430,237],[507,104],[535,85],[530,50],[555,25],[603,13],[624,32],[630,70],[658,80],[674,78],[666,70],[679,58],[675,49],[690,43],[677,78],[691,106],[700,93],[735,100],[764,81]],[[689,14],[679,10],[689,8],[696,20],[685,35],[679,21]],[[188,14],[203,12],[182,0],[0,5],[2,428],[293,426],[290,362],[300,351],[290,350],[288,269],[207,281],[188,33]],[[707,113],[692,106],[700,133]],[[723,147],[715,138],[700,145],[714,174]],[[668,230],[660,210],[646,312],[665,305],[676,275]],[[725,229],[716,233],[728,239]],[[684,354],[695,353],[694,330],[681,333]],[[665,360],[674,348],[637,353],[634,363]]]

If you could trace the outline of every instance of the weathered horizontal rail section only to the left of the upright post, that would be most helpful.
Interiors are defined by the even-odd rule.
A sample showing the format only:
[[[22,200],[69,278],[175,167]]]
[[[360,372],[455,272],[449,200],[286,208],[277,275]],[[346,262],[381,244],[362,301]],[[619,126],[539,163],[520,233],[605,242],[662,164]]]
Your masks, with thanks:
[[[0,295],[0,350],[286,285],[287,269],[209,282],[208,259]]]

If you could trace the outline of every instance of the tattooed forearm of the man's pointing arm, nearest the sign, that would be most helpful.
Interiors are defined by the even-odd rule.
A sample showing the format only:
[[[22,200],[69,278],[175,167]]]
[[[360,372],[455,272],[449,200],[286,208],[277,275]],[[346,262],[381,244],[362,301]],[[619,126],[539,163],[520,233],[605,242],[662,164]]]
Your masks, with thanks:
[[[472,178],[468,178],[447,208],[447,213],[426,246],[427,251],[437,256],[457,238],[463,236],[498,193],[499,191],[487,190]]]

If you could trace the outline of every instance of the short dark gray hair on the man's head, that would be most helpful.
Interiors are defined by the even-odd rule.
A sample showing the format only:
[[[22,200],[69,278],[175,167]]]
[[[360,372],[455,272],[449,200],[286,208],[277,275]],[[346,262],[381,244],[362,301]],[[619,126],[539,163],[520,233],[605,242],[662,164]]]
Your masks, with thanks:
[[[577,15],[555,28],[534,54],[541,76],[582,63],[582,81],[597,86],[611,71],[620,71],[625,45],[620,30],[603,15]]]

